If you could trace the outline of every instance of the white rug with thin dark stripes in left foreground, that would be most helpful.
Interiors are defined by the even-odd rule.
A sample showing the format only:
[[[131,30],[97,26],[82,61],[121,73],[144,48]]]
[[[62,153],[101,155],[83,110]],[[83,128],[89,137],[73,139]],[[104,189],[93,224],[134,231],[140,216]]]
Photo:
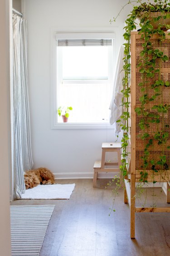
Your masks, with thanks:
[[[11,205],[12,256],[39,256],[55,205]]]

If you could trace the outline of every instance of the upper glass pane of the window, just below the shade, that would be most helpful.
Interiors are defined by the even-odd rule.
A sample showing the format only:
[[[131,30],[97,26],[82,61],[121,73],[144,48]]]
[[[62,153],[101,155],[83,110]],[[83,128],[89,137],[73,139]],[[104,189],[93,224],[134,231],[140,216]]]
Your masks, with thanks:
[[[108,46],[62,46],[63,80],[108,79]]]

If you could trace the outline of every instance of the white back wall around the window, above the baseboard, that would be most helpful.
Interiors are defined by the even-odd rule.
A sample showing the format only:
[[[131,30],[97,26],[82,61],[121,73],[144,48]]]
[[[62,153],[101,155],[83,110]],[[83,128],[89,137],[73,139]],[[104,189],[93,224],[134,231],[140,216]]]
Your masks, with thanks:
[[[34,167],[45,166],[56,177],[92,177],[101,159],[102,142],[114,141],[113,129],[52,130],[50,128],[51,31],[111,30],[117,50],[123,42],[126,0],[25,0],[28,26],[29,102]],[[23,6],[23,5],[22,5]],[[76,173],[76,174],[73,174]]]

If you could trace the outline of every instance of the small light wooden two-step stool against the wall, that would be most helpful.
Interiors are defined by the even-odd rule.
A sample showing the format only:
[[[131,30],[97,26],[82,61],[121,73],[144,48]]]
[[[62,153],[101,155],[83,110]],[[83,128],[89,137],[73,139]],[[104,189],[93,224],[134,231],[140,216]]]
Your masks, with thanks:
[[[106,152],[117,152],[118,162],[106,162]],[[94,163],[94,176],[93,176],[93,187],[96,187],[97,174],[98,172],[120,172],[119,168],[105,168],[111,165],[121,165],[121,143],[102,143],[102,160],[97,160]],[[123,184],[122,175],[120,173],[120,184]]]

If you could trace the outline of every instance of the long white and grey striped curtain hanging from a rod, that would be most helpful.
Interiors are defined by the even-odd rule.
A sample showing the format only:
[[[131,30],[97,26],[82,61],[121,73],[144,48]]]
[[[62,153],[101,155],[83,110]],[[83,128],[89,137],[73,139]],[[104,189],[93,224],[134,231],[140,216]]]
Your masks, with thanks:
[[[26,20],[13,14],[14,198],[25,192],[24,171],[33,167],[29,121]]]

